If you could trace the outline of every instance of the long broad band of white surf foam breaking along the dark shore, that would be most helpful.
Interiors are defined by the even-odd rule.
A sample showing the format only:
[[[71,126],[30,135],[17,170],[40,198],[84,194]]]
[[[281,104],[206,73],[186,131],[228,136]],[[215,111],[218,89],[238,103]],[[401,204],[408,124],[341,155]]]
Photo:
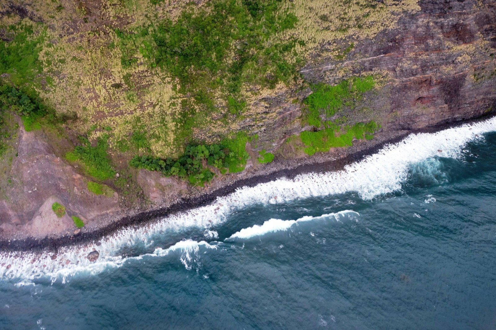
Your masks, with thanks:
[[[39,257],[30,252],[0,252],[0,279],[27,283],[40,278],[50,278],[52,281],[59,279],[64,282],[74,274],[97,274],[109,268],[120,267],[126,260],[143,257],[125,258],[118,255],[119,249],[137,245],[153,246],[157,236],[186,228],[208,230],[213,235],[212,227],[224,222],[231,212],[255,203],[284,203],[297,198],[327,196],[348,191],[357,191],[362,198],[372,199],[377,195],[400,189],[401,183],[408,177],[411,164],[434,156],[462,157],[466,154],[462,149],[468,141],[483,139],[484,133],[493,131],[496,131],[496,117],[433,134],[411,135],[396,144],[386,145],[360,162],[347,165],[342,171],[307,173],[297,176],[294,180],[283,178],[250,188],[240,188],[227,196],[218,197],[209,205],[165,217],[138,229],[127,228],[103,237],[98,245],[88,243],[63,247],[53,260],[52,254],[47,253]],[[271,223],[274,228],[282,228],[288,224],[277,221]],[[187,244],[192,245],[188,247],[186,243],[178,242],[179,245],[174,246],[189,251],[191,248],[199,248],[203,244],[200,243],[189,242]],[[193,245],[196,247],[191,247]],[[99,251],[100,257],[95,263],[90,263],[86,256],[93,249]],[[164,253],[155,250],[155,253],[149,256],[160,257]],[[184,258],[187,259],[186,256]],[[10,267],[7,269],[8,265]]]

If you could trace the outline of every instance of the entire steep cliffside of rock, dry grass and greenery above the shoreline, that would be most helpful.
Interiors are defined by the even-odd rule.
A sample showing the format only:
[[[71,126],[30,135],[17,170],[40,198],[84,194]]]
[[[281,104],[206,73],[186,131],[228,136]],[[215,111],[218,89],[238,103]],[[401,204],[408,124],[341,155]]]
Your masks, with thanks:
[[[269,2],[232,3],[252,15],[249,24],[261,24],[249,26],[265,31],[270,17],[258,15],[267,15],[261,8]],[[70,216],[83,220],[83,234],[117,228],[121,218],[229,191],[240,180],[283,175],[289,173],[284,169],[335,160],[409,132],[496,111],[495,2],[327,2],[277,2],[270,8],[276,8],[279,23],[274,34],[261,39],[265,48],[243,50],[237,42],[248,45],[250,39],[231,36],[228,55],[215,64],[218,71],[209,62],[202,67],[190,63],[185,82],[175,76],[176,66],[160,68],[159,54],[152,55],[161,45],[155,25],[176,26],[181,17],[189,17],[181,16],[187,10],[191,17],[208,18],[215,1],[187,6],[148,0],[56,1],[47,5],[51,9],[42,8],[43,1],[4,1],[2,49],[17,45],[16,36],[29,24],[34,32],[27,42],[39,49],[36,60],[23,64],[27,73],[3,60],[3,84],[26,91],[33,100],[39,97],[50,110],[31,115],[34,124],[26,122],[29,114],[4,111],[2,239],[72,236],[76,227]],[[261,4],[254,10],[256,3]],[[156,14],[150,18],[147,11]],[[281,52],[280,58],[267,50],[292,38],[290,52]],[[20,54],[24,48],[15,49]],[[261,55],[254,67],[252,58],[243,62],[248,64],[238,68],[241,85],[229,89],[238,77],[229,71],[231,65],[246,52]],[[179,65],[178,56],[169,61]],[[234,164],[242,171],[233,170],[227,160],[207,165],[205,158],[198,166],[215,175],[211,180],[195,172],[188,183],[147,170],[144,163],[129,165],[136,155],[177,159],[188,143],[220,143],[232,155],[235,147],[227,146],[233,141],[246,147]],[[100,172],[76,152],[97,149],[107,152],[110,164]],[[65,206],[61,218],[52,211],[54,202]]]

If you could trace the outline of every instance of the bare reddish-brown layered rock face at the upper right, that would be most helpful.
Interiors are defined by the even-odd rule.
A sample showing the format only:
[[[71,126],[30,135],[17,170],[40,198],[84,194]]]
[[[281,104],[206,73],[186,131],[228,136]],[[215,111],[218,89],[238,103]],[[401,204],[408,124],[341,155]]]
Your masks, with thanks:
[[[421,11],[402,17],[396,29],[355,42],[344,60],[329,59],[302,73],[327,83],[338,82],[342,72],[382,75],[385,86],[370,104],[385,130],[416,130],[495,112],[495,3],[419,5]]]

